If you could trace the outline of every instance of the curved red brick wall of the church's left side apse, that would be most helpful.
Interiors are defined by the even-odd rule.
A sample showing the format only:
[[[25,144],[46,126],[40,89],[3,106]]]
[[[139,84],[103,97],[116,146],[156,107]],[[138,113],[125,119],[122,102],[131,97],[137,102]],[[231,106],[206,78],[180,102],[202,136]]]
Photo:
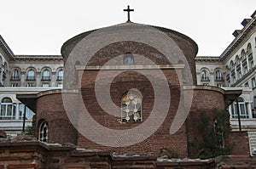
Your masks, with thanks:
[[[61,93],[46,94],[38,98],[35,127],[37,138],[40,122],[43,120],[47,121],[49,126],[49,142],[77,144],[77,130],[67,118]]]

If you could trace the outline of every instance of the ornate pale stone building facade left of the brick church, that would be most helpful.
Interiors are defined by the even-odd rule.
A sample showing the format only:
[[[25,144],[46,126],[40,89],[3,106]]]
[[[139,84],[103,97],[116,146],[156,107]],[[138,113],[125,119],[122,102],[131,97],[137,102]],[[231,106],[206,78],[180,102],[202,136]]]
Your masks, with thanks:
[[[61,55],[15,55],[0,36],[0,130],[17,135],[32,125],[32,110],[16,98],[17,94],[38,93],[62,87]]]

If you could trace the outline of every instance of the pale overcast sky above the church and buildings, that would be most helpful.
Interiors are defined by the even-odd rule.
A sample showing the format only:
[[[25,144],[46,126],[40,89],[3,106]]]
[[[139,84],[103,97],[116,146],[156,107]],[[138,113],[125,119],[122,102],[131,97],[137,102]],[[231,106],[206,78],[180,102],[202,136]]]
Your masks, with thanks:
[[[233,31],[256,9],[255,0],[0,0],[0,34],[15,54],[61,54],[84,31],[131,21],[163,26],[191,37],[198,55],[220,55]]]

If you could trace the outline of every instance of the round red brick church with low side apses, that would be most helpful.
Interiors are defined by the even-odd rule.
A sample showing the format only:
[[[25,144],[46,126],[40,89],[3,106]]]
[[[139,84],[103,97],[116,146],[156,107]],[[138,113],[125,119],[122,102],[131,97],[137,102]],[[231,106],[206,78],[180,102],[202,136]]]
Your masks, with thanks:
[[[196,86],[197,50],[182,33],[130,20],[86,31],[61,48],[62,90],[18,98],[36,112],[32,128],[40,142],[154,156],[167,148],[195,157],[191,143],[204,138],[201,114],[213,126],[225,100],[241,93]]]

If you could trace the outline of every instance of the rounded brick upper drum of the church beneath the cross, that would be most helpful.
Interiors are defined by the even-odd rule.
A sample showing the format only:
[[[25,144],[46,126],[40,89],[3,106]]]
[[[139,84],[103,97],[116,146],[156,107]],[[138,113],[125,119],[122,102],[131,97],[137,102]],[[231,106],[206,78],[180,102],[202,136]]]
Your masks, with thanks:
[[[159,26],[142,25],[142,24],[137,24],[132,22],[126,22],[119,25],[112,25],[106,28],[86,31],[65,42],[61,47],[61,55],[64,59],[64,63],[66,64],[69,55],[72,53],[73,49],[79,44],[79,42],[82,42],[82,40],[85,37],[89,37],[91,34],[95,33],[96,31],[104,31],[104,34],[108,34],[110,31],[112,32],[120,31],[120,30],[133,31],[133,29],[136,29],[136,28],[140,28],[140,29],[142,28],[141,30],[143,30],[143,28],[147,29],[148,27],[150,27],[151,29],[160,31],[160,33],[164,33],[163,35],[167,37],[171,37],[170,39],[172,39],[172,42],[176,44],[176,46],[182,52],[184,56],[183,58],[186,59],[186,64],[189,65],[189,69],[191,70],[191,74],[193,76],[193,81],[195,84],[195,81],[196,81],[195,80],[195,56],[198,52],[197,44],[191,38],[183,35],[182,33],[179,33],[177,31],[173,31],[170,29],[166,29],[163,27],[159,27]],[[122,35],[119,35],[119,36],[122,36]],[[87,48],[86,47],[87,45],[89,46],[92,45],[91,43],[96,43],[96,42],[90,41],[90,42],[84,43],[84,45],[82,46],[82,50],[85,50],[83,48]],[[170,50],[172,51],[172,48]],[[173,48],[173,51],[174,50],[175,49]],[[108,60],[113,59],[114,57],[119,56],[121,54],[127,54],[127,53],[143,55],[146,58],[153,61],[156,65],[180,64],[180,63],[184,64],[182,60],[179,60],[179,59],[175,60],[175,57],[174,59],[172,59],[172,63],[170,63],[170,59],[169,60],[166,59],[165,54],[162,54],[160,50],[148,45],[147,43],[136,42],[136,41],[126,39],[125,41],[110,42],[107,46],[104,46],[103,48],[99,48],[96,51],[96,53],[93,54],[92,56],[86,56],[86,57],[90,57],[90,60],[88,60],[86,65],[105,65],[108,62]],[[84,53],[81,52],[81,54],[83,55]],[[121,64],[119,62],[115,62],[115,63],[117,63],[118,65]],[[145,63],[137,62],[137,64],[142,65]]]

